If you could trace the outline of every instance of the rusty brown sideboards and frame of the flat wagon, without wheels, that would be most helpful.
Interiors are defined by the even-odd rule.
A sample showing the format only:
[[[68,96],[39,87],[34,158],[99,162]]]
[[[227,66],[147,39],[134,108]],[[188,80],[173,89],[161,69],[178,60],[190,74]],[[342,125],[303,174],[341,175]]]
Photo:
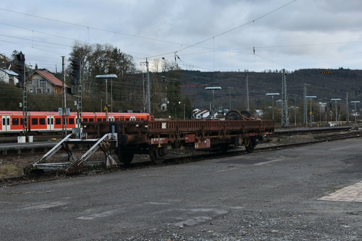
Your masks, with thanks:
[[[260,137],[274,133],[273,120],[88,122],[85,123],[83,131],[89,135],[105,134],[109,132],[109,124],[118,125],[119,134],[128,135],[127,140],[122,141],[123,145],[128,143],[150,145],[176,143],[178,145],[180,141],[196,143],[199,140],[205,141],[207,138],[211,138],[212,143],[220,143],[228,142],[230,138],[235,137]],[[161,138],[167,139],[160,141]]]

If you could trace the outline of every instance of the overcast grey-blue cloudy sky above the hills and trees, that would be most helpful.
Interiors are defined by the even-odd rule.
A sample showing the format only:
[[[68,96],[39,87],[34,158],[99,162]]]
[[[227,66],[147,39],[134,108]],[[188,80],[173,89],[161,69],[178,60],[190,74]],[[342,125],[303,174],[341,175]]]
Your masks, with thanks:
[[[362,69],[361,0],[18,0],[0,8],[0,53],[22,51],[27,64],[51,71],[75,39],[113,44],[139,68],[146,57],[150,66],[175,61],[177,51],[182,69],[201,71]]]

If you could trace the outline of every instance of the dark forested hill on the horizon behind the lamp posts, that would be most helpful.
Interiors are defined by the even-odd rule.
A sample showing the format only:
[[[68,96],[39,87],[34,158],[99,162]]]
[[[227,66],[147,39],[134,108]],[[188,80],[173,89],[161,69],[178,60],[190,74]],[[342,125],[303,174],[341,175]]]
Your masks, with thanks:
[[[315,95],[323,101],[336,97],[345,100],[346,92],[348,92],[349,101],[361,100],[362,102],[362,70],[299,69],[293,72],[286,70],[286,73],[286,91],[289,99],[294,98],[293,95],[298,95],[296,98],[303,99],[305,84],[307,95]],[[258,103],[268,100],[266,93],[278,92],[279,98],[282,95],[282,70],[265,70],[264,72],[182,70],[180,75],[182,92],[195,106],[208,107],[210,93],[205,90],[205,87],[220,86],[222,90],[215,91],[215,101],[219,102],[218,105],[228,107],[231,99],[231,105],[235,108],[245,107],[246,78],[248,78],[249,102],[253,102],[255,107]]]

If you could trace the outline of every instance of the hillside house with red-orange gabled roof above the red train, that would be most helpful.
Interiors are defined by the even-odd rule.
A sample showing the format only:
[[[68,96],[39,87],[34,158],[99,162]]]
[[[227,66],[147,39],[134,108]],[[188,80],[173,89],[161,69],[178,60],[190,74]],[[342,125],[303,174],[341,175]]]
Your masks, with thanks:
[[[26,90],[30,93],[62,94],[62,84],[60,79],[48,71],[36,69],[27,78]]]

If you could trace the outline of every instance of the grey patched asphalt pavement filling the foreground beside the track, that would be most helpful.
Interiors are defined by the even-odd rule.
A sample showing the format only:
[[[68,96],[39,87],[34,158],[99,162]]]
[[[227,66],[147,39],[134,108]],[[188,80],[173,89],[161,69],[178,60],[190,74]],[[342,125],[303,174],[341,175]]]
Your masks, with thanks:
[[[0,240],[360,240],[361,141],[0,188]]]

